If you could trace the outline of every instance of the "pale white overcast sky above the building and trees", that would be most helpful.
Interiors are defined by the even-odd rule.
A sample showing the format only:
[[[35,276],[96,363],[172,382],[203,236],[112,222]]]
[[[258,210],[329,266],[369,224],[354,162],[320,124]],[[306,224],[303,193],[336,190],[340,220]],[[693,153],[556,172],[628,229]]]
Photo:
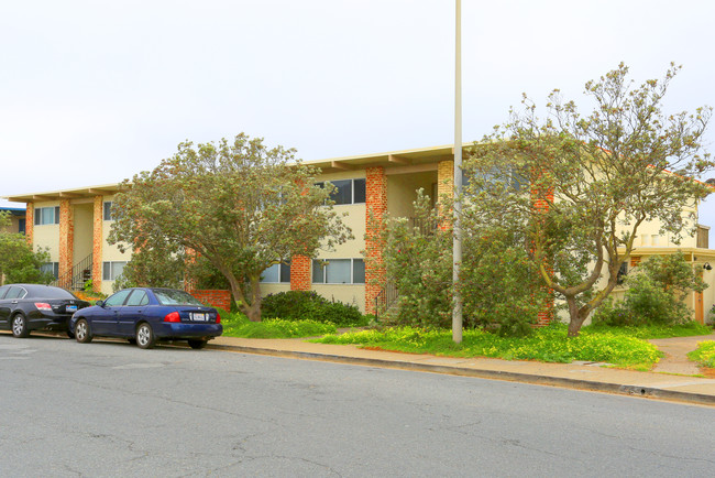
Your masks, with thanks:
[[[462,0],[463,139],[522,91],[583,102],[620,61],[638,84],[682,64],[668,108],[715,106],[714,22],[710,0]],[[0,196],[120,182],[241,131],[306,161],[454,138],[453,0],[8,0],[0,45]]]

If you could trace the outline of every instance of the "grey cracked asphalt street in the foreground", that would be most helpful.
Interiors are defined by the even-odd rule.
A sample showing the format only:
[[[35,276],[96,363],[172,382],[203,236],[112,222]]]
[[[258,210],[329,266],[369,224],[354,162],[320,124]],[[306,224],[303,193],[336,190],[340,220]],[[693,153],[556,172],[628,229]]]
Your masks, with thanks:
[[[710,476],[715,410],[0,335],[0,476]]]

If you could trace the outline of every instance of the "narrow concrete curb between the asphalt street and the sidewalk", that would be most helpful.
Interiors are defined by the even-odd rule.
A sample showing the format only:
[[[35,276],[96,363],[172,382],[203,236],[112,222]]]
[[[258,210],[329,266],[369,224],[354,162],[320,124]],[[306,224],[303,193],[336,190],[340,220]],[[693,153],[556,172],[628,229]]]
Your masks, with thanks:
[[[416,363],[411,361],[383,360],[365,357],[346,357],[333,354],[320,354],[295,350],[278,350],[262,347],[231,346],[231,345],[211,345],[207,348],[217,350],[228,350],[242,354],[265,355],[273,357],[327,361],[334,363],[346,363],[362,367],[380,367],[398,370],[409,370],[419,372],[443,373],[460,377],[474,377],[490,380],[502,380],[509,382],[529,383],[535,385],[559,387],[566,389],[584,390],[591,392],[615,393],[628,396],[639,396],[647,399],[657,399],[666,401],[684,402],[690,404],[715,406],[715,396],[702,393],[680,392],[675,390],[666,390],[653,387],[625,385],[622,383],[610,383],[603,381],[591,381],[581,379],[570,379],[564,377],[536,376],[530,373],[519,373],[501,370],[485,370],[465,367],[452,367],[444,365]]]

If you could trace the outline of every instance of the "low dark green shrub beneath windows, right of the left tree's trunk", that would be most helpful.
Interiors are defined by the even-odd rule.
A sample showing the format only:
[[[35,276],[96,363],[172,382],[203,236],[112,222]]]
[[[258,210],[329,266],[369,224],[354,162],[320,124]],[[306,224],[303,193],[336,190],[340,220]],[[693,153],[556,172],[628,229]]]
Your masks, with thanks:
[[[367,325],[367,318],[356,305],[328,301],[315,291],[288,291],[263,298],[261,313],[284,321],[314,321],[338,327]]]

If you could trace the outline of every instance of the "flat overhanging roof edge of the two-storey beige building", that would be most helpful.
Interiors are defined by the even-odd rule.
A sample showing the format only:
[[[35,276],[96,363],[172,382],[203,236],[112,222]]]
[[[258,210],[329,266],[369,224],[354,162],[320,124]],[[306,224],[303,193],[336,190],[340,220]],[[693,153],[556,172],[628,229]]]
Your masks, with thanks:
[[[462,149],[474,143],[463,143]],[[360,170],[367,166],[395,167],[419,165],[435,161],[454,159],[452,144],[441,146],[418,148],[411,150],[389,151],[385,153],[360,154],[354,156],[331,157],[327,160],[304,161],[302,164],[318,166],[323,173],[337,171]],[[3,199],[12,203],[33,203],[38,200],[59,200],[88,198],[97,195],[116,194],[121,189],[120,183],[102,184],[99,186],[78,187],[73,189],[48,191],[6,196]]]

